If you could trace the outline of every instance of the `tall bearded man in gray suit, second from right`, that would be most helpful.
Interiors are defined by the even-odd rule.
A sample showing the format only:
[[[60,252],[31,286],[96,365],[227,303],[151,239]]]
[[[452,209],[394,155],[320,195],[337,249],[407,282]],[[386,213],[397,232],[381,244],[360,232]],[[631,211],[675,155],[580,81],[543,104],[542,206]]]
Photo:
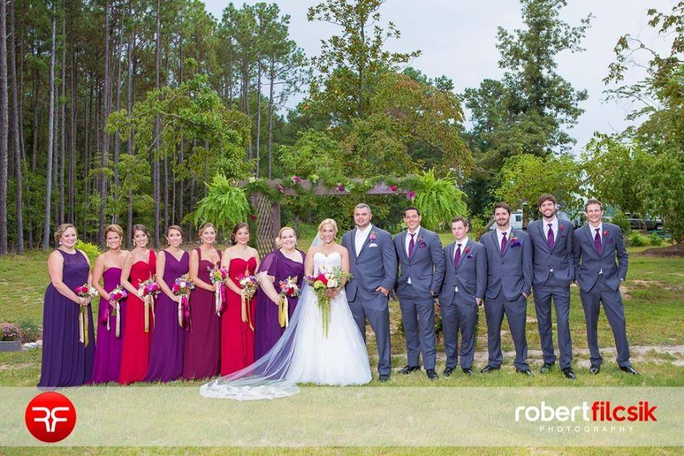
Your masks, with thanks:
[[[541,341],[544,366],[541,373],[548,372],[556,363],[554,338],[551,335],[551,298],[556,308],[558,348],[561,352],[561,370],[566,378],[575,380],[570,338],[570,284],[575,278],[572,253],[574,224],[556,217],[556,197],[549,193],[537,201],[543,216],[527,225],[527,234],[534,253],[534,310],[537,311],[537,327]]]

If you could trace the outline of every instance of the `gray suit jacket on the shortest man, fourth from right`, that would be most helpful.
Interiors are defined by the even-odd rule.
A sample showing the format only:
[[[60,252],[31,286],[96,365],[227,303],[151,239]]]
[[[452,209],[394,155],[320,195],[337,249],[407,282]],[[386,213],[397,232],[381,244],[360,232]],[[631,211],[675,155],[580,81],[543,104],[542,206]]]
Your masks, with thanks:
[[[461,258],[454,267],[456,242],[444,248],[445,274],[440,291],[440,304],[447,306],[454,299],[461,304],[475,303],[475,298],[484,299],[487,288],[487,254],[480,242],[468,239],[461,246]],[[458,293],[456,288],[458,287]]]

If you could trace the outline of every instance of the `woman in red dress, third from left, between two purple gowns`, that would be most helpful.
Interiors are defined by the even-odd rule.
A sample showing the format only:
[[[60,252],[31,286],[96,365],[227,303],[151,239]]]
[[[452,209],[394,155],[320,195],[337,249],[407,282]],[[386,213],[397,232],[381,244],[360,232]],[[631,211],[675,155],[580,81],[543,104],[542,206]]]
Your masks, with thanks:
[[[121,286],[128,291],[126,299],[123,353],[118,382],[121,385],[145,379],[147,361],[150,359],[150,339],[154,331],[154,318],[149,316],[149,331],[145,332],[145,305],[138,297],[141,282],[155,275],[157,258],[155,251],[147,249],[150,233],[145,225],[133,225],[135,249],[126,256],[121,271]],[[152,310],[150,309],[150,314]]]

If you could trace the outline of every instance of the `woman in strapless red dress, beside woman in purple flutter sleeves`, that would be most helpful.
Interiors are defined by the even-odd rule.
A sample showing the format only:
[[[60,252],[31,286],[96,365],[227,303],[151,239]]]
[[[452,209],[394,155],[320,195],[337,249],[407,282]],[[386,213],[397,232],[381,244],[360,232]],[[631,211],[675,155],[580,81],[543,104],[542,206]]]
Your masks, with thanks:
[[[247,304],[248,321],[242,321],[242,288],[238,277],[254,275],[259,267],[259,253],[247,245],[249,225],[246,223],[234,227],[231,242],[233,246],[226,249],[221,262],[229,274],[226,304],[221,316],[221,375],[234,373],[254,363],[254,297]]]

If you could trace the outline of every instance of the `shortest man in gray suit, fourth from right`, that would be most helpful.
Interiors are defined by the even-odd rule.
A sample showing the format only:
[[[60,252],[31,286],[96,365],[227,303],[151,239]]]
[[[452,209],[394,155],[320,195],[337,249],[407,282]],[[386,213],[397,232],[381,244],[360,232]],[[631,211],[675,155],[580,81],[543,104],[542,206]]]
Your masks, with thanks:
[[[458,359],[458,332],[461,333],[461,369],[472,375],[472,358],[475,355],[475,325],[477,309],[482,305],[487,285],[487,254],[480,242],[468,237],[470,222],[465,217],[451,220],[455,242],[444,248],[446,265],[440,309],[444,328],[444,351],[447,366],[443,375],[448,377],[456,368]]]

